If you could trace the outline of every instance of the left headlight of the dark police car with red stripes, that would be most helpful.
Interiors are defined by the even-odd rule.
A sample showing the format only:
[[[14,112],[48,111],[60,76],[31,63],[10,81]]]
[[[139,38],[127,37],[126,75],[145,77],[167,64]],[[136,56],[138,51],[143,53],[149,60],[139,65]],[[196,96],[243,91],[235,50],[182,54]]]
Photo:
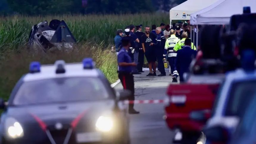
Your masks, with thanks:
[[[5,130],[10,138],[23,137],[23,129],[21,124],[15,118],[7,118],[5,122]]]

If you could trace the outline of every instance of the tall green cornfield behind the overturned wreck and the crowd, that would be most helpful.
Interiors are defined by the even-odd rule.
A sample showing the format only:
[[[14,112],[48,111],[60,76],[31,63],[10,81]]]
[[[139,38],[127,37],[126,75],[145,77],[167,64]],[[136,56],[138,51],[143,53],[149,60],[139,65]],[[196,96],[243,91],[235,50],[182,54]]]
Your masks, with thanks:
[[[27,17],[13,15],[0,17],[0,54],[6,49],[17,49],[24,46],[29,38],[33,25],[41,21],[52,19],[64,20],[78,43],[114,43],[117,29],[125,26],[143,24],[143,27],[161,22],[169,23],[167,14],[125,14],[125,15],[61,15]]]

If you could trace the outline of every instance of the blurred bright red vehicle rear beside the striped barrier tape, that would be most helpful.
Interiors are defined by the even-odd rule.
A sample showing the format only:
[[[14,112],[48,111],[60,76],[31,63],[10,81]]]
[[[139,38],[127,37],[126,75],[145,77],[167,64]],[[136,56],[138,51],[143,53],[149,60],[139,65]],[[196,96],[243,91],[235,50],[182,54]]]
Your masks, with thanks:
[[[165,120],[171,130],[182,132],[182,143],[191,138],[195,141],[201,134],[207,118],[210,118],[219,83],[211,84],[171,84],[167,89],[169,104],[165,106]],[[191,116],[206,118],[192,120]],[[175,140],[174,140],[175,141]]]

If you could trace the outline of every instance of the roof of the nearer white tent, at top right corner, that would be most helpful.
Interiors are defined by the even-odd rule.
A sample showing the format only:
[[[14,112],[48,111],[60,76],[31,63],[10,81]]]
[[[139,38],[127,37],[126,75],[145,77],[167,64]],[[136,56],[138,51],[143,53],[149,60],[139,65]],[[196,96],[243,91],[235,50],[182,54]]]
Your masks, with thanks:
[[[256,12],[256,0],[218,0],[214,4],[191,14],[191,24],[229,24],[230,17],[242,14],[243,7]]]

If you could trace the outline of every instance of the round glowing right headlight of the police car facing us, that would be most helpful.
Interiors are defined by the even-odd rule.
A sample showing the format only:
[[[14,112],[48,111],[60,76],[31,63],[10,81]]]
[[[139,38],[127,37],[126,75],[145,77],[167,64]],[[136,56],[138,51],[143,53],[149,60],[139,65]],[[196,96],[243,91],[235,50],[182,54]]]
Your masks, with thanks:
[[[113,128],[113,119],[111,117],[100,116],[96,122],[96,128],[102,132],[109,132]]]

